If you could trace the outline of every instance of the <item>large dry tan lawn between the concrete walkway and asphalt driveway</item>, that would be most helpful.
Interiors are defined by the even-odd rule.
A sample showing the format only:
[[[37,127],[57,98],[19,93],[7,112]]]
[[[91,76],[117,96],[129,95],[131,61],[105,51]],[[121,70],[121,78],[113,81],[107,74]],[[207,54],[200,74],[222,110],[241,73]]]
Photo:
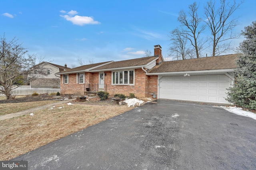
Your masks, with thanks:
[[[34,116],[23,115],[0,121],[0,160],[10,160],[132,108],[78,102],[37,111]]]

